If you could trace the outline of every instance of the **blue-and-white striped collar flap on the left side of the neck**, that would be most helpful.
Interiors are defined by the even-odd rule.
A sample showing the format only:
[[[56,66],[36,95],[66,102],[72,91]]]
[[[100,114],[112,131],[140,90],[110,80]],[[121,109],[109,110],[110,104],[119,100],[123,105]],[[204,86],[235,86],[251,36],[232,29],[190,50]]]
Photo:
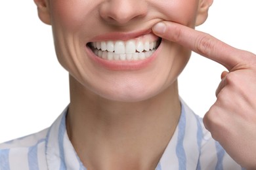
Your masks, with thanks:
[[[46,158],[49,170],[86,169],[79,160],[66,131],[68,107],[58,116],[49,129],[46,142]]]

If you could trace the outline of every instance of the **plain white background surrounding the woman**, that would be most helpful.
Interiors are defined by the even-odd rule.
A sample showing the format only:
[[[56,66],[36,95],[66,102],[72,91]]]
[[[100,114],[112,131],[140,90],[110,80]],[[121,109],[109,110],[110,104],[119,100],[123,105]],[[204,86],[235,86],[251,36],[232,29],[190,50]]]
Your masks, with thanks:
[[[215,0],[197,29],[256,53],[255,7],[255,0]],[[214,103],[223,70],[192,54],[180,76],[180,94],[200,116]],[[1,1],[0,143],[50,126],[68,103],[68,73],[55,57],[51,27],[39,21],[32,0]]]

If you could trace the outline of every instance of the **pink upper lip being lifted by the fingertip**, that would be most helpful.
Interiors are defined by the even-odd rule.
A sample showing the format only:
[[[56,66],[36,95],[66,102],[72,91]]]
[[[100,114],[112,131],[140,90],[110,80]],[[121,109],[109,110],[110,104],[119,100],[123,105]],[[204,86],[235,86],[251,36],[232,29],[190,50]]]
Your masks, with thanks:
[[[136,37],[146,35],[148,33],[152,33],[151,28],[150,29],[144,29],[140,31],[131,31],[131,32],[110,32],[102,35],[97,35],[93,37],[90,42],[96,42],[96,41],[108,41],[108,40],[121,40],[121,41],[127,41],[129,39],[135,39]]]

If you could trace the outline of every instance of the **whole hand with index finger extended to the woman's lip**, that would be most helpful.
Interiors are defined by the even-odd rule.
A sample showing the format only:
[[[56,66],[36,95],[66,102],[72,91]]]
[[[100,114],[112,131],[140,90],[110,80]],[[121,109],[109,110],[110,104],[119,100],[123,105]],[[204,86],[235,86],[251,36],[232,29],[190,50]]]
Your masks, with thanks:
[[[163,39],[177,42],[221,63],[229,72],[221,75],[217,101],[203,118],[216,141],[242,167],[256,169],[256,56],[173,22],[152,28]]]

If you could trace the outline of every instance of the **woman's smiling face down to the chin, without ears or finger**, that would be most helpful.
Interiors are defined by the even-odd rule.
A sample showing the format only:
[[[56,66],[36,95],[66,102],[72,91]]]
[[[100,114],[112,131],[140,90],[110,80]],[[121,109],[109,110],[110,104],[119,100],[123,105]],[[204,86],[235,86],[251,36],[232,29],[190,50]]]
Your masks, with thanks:
[[[160,37],[161,20],[194,27],[200,0],[49,0],[56,54],[92,92],[141,101],[171,86],[190,51]]]

